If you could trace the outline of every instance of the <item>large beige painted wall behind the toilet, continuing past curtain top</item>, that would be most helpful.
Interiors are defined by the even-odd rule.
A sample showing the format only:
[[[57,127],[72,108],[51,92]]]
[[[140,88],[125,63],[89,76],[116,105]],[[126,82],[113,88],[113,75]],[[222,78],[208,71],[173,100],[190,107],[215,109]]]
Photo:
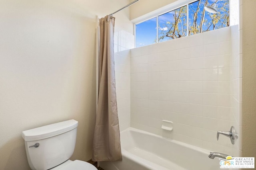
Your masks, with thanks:
[[[128,0],[0,0],[0,170],[28,170],[21,132],[79,122],[72,160],[89,160],[96,114],[96,15]],[[116,25],[132,32],[129,11]]]

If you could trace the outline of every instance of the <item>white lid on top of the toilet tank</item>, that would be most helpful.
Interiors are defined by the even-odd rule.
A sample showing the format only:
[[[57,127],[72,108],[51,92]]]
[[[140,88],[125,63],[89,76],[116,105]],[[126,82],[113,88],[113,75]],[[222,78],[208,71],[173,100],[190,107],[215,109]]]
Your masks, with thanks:
[[[75,129],[77,126],[78,121],[71,119],[23,131],[22,137],[25,141],[37,141],[40,139],[46,139],[48,137],[60,135],[67,131],[71,131],[72,129]]]

